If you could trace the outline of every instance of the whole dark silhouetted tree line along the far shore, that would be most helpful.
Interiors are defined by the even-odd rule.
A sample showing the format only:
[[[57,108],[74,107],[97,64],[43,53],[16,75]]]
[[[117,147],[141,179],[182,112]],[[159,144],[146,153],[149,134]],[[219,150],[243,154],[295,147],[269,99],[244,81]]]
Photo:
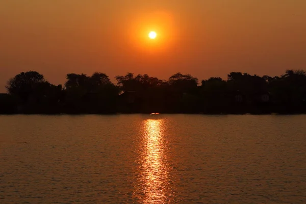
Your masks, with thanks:
[[[227,79],[199,80],[175,73],[168,80],[148,74],[69,73],[64,85],[49,83],[37,71],[21,72],[0,95],[5,114],[306,113],[306,72],[287,70],[270,77],[231,72]]]

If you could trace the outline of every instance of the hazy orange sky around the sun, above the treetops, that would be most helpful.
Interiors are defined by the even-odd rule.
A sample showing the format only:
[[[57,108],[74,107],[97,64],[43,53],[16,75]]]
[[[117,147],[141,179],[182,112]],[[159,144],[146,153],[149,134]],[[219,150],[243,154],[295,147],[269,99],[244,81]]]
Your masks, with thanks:
[[[285,69],[306,69],[305,0],[0,0],[0,92],[28,70],[63,84],[71,72],[225,79]]]

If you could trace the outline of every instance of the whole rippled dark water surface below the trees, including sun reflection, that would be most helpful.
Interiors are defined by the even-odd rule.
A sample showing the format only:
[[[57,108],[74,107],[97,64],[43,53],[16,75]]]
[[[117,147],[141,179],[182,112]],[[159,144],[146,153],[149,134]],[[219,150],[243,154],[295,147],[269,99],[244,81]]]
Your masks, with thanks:
[[[306,203],[306,115],[0,116],[0,203]]]

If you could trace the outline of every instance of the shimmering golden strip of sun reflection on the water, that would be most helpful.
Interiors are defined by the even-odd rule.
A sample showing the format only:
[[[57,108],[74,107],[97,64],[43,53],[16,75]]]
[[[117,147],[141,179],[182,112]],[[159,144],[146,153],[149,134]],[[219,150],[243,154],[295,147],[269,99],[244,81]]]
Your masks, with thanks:
[[[169,167],[165,152],[165,121],[148,119],[144,121],[141,182],[143,203],[169,203]]]

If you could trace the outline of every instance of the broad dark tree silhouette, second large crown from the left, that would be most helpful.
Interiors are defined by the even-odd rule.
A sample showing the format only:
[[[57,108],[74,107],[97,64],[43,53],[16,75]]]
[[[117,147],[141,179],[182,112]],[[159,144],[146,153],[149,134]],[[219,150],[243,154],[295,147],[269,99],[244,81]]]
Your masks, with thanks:
[[[70,113],[113,113],[119,89],[105,73],[70,73],[65,83],[65,109]]]

